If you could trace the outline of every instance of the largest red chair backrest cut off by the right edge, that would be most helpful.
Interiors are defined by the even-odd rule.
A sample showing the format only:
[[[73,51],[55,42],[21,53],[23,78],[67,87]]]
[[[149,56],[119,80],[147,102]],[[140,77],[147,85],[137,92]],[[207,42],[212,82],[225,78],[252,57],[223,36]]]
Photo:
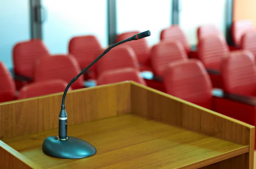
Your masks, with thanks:
[[[256,96],[255,57],[249,51],[233,51],[221,64],[223,89],[227,93]]]

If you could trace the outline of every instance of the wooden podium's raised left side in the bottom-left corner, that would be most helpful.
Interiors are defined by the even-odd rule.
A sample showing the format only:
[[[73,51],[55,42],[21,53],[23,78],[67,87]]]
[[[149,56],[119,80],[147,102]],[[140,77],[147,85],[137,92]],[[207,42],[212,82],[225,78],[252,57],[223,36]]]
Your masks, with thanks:
[[[5,165],[7,164],[7,165]],[[0,166],[12,169],[41,169],[41,166],[26,158],[0,140]]]

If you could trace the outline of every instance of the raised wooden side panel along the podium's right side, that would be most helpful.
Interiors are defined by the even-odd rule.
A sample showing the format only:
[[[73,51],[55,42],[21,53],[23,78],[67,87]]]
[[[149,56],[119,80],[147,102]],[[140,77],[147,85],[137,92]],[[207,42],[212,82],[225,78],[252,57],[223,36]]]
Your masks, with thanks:
[[[250,153],[246,158],[249,161],[249,168],[253,169],[254,126],[166,93],[131,83],[131,113],[234,143],[249,145]]]

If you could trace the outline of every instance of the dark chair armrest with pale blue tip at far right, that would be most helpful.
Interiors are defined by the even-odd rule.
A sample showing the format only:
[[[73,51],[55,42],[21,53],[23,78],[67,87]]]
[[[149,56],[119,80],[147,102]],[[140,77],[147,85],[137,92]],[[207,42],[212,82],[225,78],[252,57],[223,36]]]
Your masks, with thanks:
[[[256,97],[251,96],[241,96],[238,94],[231,94],[231,93],[224,93],[222,90],[215,90],[213,91],[212,95],[215,97],[223,98],[223,99],[229,99],[231,101],[240,102],[243,104],[256,106]]]

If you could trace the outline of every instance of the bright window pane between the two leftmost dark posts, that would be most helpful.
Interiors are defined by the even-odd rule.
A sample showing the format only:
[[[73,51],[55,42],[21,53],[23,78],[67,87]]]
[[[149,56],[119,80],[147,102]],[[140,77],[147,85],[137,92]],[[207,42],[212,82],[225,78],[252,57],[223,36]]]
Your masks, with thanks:
[[[52,54],[67,53],[69,40],[79,35],[93,34],[108,45],[106,0],[42,0],[42,5],[43,40]]]

